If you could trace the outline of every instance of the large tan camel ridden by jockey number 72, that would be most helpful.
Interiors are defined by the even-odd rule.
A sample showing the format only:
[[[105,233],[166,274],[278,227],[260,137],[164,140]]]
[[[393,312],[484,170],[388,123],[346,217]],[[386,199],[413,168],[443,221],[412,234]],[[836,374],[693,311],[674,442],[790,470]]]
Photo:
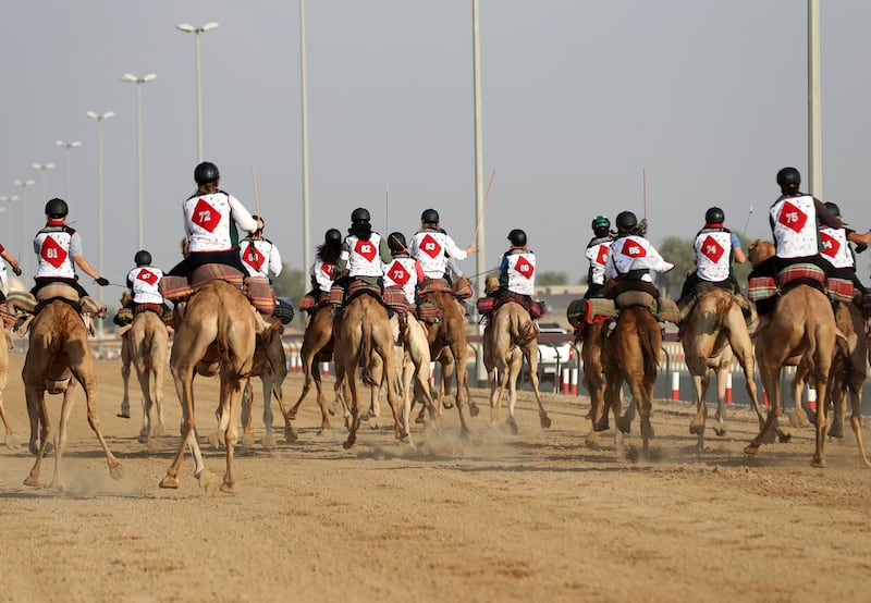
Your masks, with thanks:
[[[221,490],[235,492],[233,447],[240,421],[242,390],[250,378],[257,333],[255,310],[235,286],[224,281],[210,281],[191,295],[184,319],[175,329],[170,355],[170,370],[182,404],[182,438],[179,452],[161,488],[179,488],[179,470],[186,446],[194,455],[194,476],[207,490],[211,480],[203,463],[203,453],[194,426],[194,372],[207,372],[218,366],[221,380],[217,415],[226,447],[226,472]]]

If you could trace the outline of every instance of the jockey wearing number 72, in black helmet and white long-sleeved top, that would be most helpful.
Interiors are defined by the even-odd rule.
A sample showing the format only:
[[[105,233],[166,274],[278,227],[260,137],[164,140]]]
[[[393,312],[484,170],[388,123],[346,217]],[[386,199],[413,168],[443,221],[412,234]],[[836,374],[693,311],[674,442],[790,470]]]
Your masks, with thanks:
[[[182,204],[188,255],[169,274],[187,276],[207,263],[220,263],[247,274],[240,257],[240,230],[253,233],[258,223],[245,206],[219,188],[218,167],[204,161],[194,169],[196,192]]]

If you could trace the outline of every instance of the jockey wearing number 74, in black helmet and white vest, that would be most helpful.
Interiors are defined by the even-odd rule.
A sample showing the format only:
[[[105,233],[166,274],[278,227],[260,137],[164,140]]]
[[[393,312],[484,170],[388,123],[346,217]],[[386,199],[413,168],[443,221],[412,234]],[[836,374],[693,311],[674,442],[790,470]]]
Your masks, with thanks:
[[[710,283],[733,294],[740,292],[733,260],[747,261],[747,256],[738,241],[738,235],[723,226],[726,217],[719,207],[704,212],[704,226],[696,234],[692,249],[696,254],[696,271],[687,275],[680,290],[678,307],[688,305],[696,296],[696,287],[701,282]]]

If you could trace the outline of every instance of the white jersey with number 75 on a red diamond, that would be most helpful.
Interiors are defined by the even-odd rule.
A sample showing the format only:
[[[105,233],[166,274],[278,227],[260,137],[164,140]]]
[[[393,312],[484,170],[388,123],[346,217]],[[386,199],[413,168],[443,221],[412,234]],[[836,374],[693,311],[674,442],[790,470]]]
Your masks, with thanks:
[[[800,258],[820,253],[813,197],[781,197],[771,206],[770,216],[778,258]]]

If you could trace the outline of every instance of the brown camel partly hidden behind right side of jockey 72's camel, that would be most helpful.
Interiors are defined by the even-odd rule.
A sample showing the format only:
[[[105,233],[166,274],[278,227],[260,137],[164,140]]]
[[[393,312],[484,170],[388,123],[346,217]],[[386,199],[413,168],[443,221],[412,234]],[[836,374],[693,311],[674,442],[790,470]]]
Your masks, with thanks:
[[[287,442],[296,441],[296,432],[287,418],[284,409],[281,385],[287,377],[287,359],[284,354],[284,344],[281,335],[284,325],[280,320],[273,320],[271,325],[257,335],[257,346],[254,353],[254,367],[252,377],[259,377],[263,386],[263,427],[266,433],[262,439],[263,447],[271,451],[275,447],[275,436],[272,435],[272,395],[279,403],[281,416],[284,419],[284,438]],[[254,405],[254,390],[250,382],[242,394],[242,444],[250,445],[252,434],[252,406]]]

